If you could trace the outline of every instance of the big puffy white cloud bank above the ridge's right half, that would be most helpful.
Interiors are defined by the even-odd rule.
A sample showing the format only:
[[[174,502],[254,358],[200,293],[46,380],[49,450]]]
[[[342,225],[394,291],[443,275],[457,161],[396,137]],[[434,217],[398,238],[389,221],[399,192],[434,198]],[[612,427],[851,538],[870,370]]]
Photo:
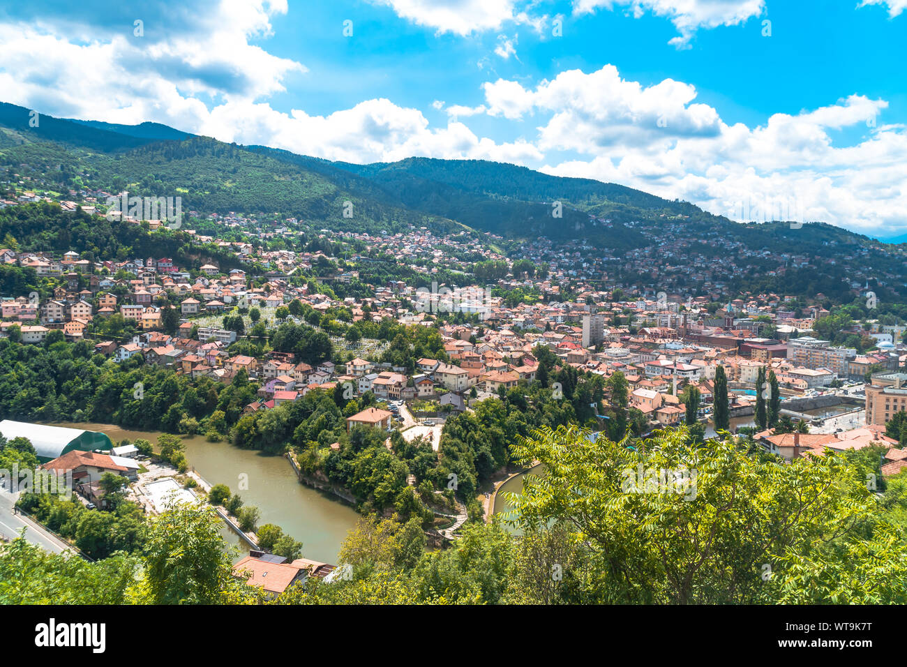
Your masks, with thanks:
[[[852,95],[749,128],[696,103],[688,83],[644,87],[611,65],[562,72],[534,89],[498,80],[484,91],[492,115],[547,119],[535,140],[544,172],[618,182],[734,219],[741,204],[757,202],[869,234],[907,231],[907,130],[876,125],[883,100]],[[843,129],[863,137],[836,147],[829,132]],[[582,158],[551,162],[561,152]]]

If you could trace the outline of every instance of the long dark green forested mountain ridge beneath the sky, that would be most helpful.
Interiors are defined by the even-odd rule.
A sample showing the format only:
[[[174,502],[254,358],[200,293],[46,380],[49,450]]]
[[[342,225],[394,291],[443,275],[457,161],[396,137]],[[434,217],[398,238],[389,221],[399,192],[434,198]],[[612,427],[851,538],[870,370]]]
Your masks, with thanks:
[[[650,245],[652,231],[667,221],[772,248],[786,243],[782,231],[730,221],[687,201],[512,164],[413,157],[360,165],[219,142],[161,123],[123,125],[39,114],[33,127],[33,116],[25,107],[0,103],[0,163],[33,164],[47,178],[58,179],[61,188],[72,187],[78,177],[109,191],[179,194],[184,211],[270,213],[337,231],[401,231],[406,225],[453,231],[462,225],[506,240],[585,240],[615,251]],[[344,215],[347,202],[353,204],[352,218]],[[797,241],[819,248],[830,233],[841,242],[866,240],[819,227],[807,226]]]

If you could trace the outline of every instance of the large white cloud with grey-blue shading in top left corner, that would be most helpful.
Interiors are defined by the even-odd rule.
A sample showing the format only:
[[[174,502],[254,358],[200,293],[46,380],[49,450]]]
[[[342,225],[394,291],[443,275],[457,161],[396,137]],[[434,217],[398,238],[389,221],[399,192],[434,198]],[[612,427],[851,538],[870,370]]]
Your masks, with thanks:
[[[29,5],[28,11],[46,11],[43,5]],[[5,101],[97,118],[102,99],[100,106],[110,111],[100,120],[138,123],[155,117],[194,125],[205,113],[197,96],[254,100],[283,91],[288,74],[306,71],[303,64],[249,43],[270,33],[270,16],[287,11],[285,0],[195,3],[191,30],[179,20],[190,5],[169,17],[159,3],[119,7],[122,15],[103,18],[93,31],[81,27],[83,16],[66,24],[66,15],[48,14],[32,24],[25,22],[24,10],[7,15],[0,23]],[[141,35],[134,20],[142,22]]]

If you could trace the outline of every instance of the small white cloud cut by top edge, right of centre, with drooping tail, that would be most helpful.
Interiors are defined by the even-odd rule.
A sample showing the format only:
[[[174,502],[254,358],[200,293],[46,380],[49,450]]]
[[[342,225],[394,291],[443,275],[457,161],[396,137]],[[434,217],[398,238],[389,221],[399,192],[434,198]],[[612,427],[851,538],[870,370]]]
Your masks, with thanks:
[[[904,2],[907,0],[894,0]],[[574,15],[589,14],[596,9],[612,10],[615,5],[630,6],[639,18],[645,12],[666,16],[680,35],[670,40],[678,48],[688,46],[697,28],[715,28],[719,25],[745,23],[761,15],[765,0],[573,0]]]

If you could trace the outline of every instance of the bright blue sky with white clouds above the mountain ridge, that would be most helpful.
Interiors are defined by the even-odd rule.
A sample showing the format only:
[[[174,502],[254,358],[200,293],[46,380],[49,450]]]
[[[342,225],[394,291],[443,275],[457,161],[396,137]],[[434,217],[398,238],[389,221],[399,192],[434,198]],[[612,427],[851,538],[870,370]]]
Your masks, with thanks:
[[[907,0],[34,0],[0,101],[907,234]]]

